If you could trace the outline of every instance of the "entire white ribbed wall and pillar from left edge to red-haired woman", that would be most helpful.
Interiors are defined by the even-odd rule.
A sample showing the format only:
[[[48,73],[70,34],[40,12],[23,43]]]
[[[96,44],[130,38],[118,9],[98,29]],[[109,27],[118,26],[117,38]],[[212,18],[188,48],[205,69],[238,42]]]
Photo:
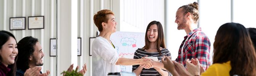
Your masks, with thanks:
[[[88,71],[85,76],[91,76],[91,56],[89,56],[89,37],[95,37],[98,30],[93,23],[93,15],[101,9],[113,10],[116,17],[120,17],[119,0],[78,0],[77,11],[71,11],[72,0],[0,0],[0,30],[7,30],[13,33],[17,41],[26,36],[38,38],[45,54],[43,58],[43,70],[50,70],[50,76],[56,76],[56,57],[50,57],[50,38],[56,38],[56,1],[58,1],[58,71],[57,75],[77,60],[82,68],[87,64]],[[74,7],[74,6],[73,6]],[[113,7],[113,8],[112,8]],[[77,13],[77,22],[72,22],[72,13]],[[27,29],[28,16],[45,16],[45,28],[37,30]],[[26,17],[26,30],[9,30],[10,17]],[[120,19],[120,18],[119,18]],[[120,20],[117,18],[117,22]],[[77,24],[77,25],[72,25]],[[72,30],[72,27],[77,30]],[[119,31],[120,27],[117,28]],[[82,56],[71,58],[74,48],[71,44],[75,38],[82,37]],[[73,40],[73,42],[72,42]],[[76,59],[76,60],[74,60]],[[81,70],[80,68],[80,70]]]

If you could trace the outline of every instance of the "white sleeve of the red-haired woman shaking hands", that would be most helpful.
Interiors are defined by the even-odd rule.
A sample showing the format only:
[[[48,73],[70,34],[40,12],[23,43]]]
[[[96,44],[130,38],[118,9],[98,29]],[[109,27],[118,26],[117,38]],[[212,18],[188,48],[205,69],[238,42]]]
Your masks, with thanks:
[[[106,41],[101,39],[95,39],[92,46],[92,51],[94,52],[94,54],[98,55],[106,62],[112,64],[115,64],[117,62],[119,58],[117,51],[113,47],[110,47],[109,43],[106,43]]]

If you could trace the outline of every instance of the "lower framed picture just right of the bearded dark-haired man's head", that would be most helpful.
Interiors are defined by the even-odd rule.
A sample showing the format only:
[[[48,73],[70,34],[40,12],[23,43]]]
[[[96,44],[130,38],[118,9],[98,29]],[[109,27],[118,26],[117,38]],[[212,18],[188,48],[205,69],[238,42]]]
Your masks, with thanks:
[[[56,38],[50,38],[50,57],[56,57]]]

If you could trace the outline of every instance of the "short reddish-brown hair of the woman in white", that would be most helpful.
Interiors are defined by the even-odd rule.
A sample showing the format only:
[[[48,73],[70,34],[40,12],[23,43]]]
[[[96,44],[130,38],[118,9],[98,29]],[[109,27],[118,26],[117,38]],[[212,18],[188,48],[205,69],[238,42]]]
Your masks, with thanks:
[[[107,15],[109,14],[113,14],[114,13],[112,11],[110,11],[109,9],[103,9],[101,11],[98,11],[94,16],[93,16],[93,21],[94,24],[96,25],[96,27],[98,27],[98,30],[101,32],[103,30],[101,23],[102,22],[106,22],[109,20],[109,18],[107,17]]]

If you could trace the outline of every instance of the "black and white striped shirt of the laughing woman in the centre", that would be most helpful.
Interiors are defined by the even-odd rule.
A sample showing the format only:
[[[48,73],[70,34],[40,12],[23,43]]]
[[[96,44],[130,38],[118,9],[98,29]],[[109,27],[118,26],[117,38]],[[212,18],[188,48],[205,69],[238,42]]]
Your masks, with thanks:
[[[159,52],[147,52],[147,51],[144,51],[142,48],[138,48],[134,52],[133,59],[141,59],[142,57],[145,57],[146,55],[147,55],[147,57],[157,57],[158,60],[161,62],[163,55],[166,55],[169,57],[169,56],[171,56],[171,53],[170,53],[170,51],[168,51],[168,49],[162,49],[161,55],[159,55]],[[139,67],[139,65],[133,65],[132,71],[136,70],[138,67]],[[141,76],[161,76],[161,74],[158,73],[158,71],[155,70],[154,68],[150,68],[150,69],[143,68],[141,71]],[[169,76],[170,76],[170,73],[169,73]]]

